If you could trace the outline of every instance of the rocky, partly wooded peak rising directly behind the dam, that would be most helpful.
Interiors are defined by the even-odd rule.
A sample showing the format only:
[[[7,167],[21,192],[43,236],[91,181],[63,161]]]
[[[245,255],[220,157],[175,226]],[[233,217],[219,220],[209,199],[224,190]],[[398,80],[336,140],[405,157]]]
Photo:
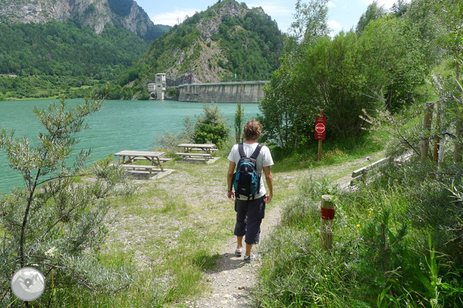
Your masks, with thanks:
[[[242,73],[243,80],[268,80],[283,48],[282,32],[262,8],[218,1],[154,40],[123,80],[148,83],[156,73],[166,73],[168,85],[241,80]]]

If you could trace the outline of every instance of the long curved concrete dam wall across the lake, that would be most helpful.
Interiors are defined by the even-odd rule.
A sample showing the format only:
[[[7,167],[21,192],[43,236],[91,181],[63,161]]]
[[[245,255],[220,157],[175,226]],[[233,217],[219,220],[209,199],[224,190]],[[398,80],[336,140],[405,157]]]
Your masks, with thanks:
[[[270,81],[234,83],[191,83],[179,85],[179,101],[202,103],[259,103],[263,86]]]

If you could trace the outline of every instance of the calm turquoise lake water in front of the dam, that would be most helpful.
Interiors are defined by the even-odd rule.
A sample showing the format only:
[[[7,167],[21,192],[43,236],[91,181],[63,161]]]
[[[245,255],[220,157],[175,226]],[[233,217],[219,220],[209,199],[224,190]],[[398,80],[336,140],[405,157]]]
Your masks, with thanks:
[[[0,101],[0,127],[15,130],[15,137],[26,136],[35,142],[44,128],[33,113],[33,107],[44,109],[53,100]],[[58,100],[56,100],[58,103]],[[69,105],[83,103],[83,99],[67,100]],[[107,157],[122,150],[147,151],[156,146],[156,138],[164,131],[180,132],[184,118],[202,114],[208,103],[184,103],[178,101],[104,101],[100,112],[86,118],[90,128],[79,134],[81,142],[75,147],[92,149],[87,162]],[[233,131],[235,103],[218,104],[228,126]],[[259,113],[258,104],[243,104],[245,120]],[[14,187],[22,186],[18,171],[10,169],[8,158],[0,151],[0,192],[8,194]]]

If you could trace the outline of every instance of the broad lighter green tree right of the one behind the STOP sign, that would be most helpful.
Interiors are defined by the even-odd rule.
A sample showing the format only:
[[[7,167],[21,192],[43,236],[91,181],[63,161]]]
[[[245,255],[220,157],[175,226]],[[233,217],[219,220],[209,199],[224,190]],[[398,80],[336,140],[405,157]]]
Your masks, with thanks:
[[[397,112],[414,101],[414,90],[425,84],[440,60],[435,40],[440,26],[429,1],[409,4],[401,18],[387,15],[371,21],[360,35],[364,71],[370,92],[384,96],[386,107]]]

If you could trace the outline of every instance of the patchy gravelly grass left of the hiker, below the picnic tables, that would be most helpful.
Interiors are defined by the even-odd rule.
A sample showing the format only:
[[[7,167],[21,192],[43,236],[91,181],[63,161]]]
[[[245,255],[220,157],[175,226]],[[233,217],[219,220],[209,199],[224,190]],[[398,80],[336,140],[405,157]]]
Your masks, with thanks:
[[[215,264],[214,251],[234,225],[233,206],[224,193],[226,164],[223,159],[213,165],[169,162],[166,168],[177,170],[170,176],[143,181],[138,194],[114,200],[117,224],[102,254],[126,250],[126,258],[138,264],[127,290],[131,300],[124,301],[127,293],[116,299],[124,302],[121,307],[174,304],[202,293],[202,272]],[[157,287],[147,297],[136,297],[136,290],[153,284]]]

